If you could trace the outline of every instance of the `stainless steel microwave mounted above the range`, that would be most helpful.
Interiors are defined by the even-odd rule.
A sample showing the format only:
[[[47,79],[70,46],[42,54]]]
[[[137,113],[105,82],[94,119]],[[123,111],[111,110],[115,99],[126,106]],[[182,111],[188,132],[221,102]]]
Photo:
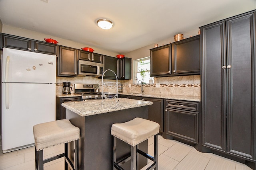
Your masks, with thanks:
[[[103,74],[102,63],[78,60],[78,76],[95,76],[100,77]]]

